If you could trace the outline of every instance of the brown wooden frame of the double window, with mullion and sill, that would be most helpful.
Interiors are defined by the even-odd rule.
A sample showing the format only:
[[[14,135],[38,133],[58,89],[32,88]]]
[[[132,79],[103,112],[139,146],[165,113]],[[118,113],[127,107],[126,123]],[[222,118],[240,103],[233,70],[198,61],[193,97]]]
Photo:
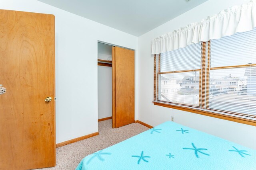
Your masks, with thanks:
[[[196,70],[199,71],[199,107],[191,107],[189,105],[178,104],[178,103],[170,103],[159,100],[159,76],[161,76],[160,72],[160,57],[161,54],[154,55],[154,105],[168,107],[172,109],[178,109],[182,111],[188,111],[191,113],[197,113],[200,115],[206,115],[210,117],[215,117],[219,119],[224,119],[228,121],[234,121],[238,123],[243,123],[247,125],[256,126],[256,121],[251,119],[246,119],[242,117],[236,117],[232,115],[225,115],[221,113],[230,113],[221,110],[214,110],[209,108],[209,90],[210,90],[210,70],[216,69],[228,69],[228,68],[241,68],[241,67],[249,67],[248,65],[236,65],[236,66],[220,66],[220,67],[211,67],[210,66],[210,48],[211,48],[211,40],[207,42],[201,42],[201,69]],[[158,60],[157,60],[158,59]],[[250,66],[256,66],[256,64],[251,64]],[[158,68],[158,71],[157,71]],[[191,70],[184,70],[191,71]],[[220,112],[212,112],[212,111]],[[231,113],[233,115],[240,113]]]

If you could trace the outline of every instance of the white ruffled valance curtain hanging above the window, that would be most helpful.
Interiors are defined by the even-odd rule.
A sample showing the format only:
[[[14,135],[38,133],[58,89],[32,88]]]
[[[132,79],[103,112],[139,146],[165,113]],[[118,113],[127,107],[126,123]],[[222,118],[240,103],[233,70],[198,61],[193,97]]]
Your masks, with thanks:
[[[152,41],[152,54],[165,53],[190,44],[219,39],[256,27],[256,0],[233,6],[198,23],[167,33]]]

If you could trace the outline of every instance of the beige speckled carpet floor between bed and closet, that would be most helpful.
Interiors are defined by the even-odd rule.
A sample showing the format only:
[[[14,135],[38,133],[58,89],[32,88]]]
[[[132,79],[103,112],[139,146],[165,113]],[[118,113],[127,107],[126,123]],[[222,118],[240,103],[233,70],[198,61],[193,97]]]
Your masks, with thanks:
[[[134,135],[148,130],[139,123],[132,123],[112,129],[112,119],[99,122],[99,135],[72,143],[56,149],[56,166],[40,170],[74,170],[87,155],[124,141]]]

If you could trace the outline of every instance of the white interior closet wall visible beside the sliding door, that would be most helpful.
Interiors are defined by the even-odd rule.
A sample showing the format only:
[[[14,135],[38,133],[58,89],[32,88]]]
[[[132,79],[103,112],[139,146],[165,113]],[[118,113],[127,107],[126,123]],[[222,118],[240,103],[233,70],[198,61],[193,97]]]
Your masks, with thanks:
[[[98,59],[112,57],[112,46],[98,43]],[[112,67],[98,66],[98,119],[112,116]]]

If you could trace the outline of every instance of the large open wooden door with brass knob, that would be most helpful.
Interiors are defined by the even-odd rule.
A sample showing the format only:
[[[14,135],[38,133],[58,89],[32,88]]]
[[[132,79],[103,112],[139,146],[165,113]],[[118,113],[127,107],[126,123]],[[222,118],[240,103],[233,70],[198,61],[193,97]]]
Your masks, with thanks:
[[[0,170],[56,164],[54,22],[53,15],[0,10]]]

